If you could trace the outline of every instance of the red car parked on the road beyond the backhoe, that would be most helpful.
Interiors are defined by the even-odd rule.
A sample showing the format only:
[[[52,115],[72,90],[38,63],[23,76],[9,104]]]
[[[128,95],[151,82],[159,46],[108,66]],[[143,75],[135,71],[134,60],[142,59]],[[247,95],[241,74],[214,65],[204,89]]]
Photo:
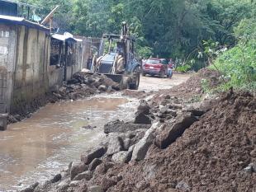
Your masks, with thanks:
[[[168,61],[166,59],[148,59],[142,66],[142,75],[159,75],[164,78],[168,74]]]

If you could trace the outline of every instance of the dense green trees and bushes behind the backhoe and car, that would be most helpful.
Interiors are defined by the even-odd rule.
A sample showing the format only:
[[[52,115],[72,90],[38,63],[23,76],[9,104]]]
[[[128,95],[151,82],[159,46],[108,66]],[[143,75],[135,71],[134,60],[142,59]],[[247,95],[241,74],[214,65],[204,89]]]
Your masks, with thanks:
[[[41,17],[59,4],[56,26],[78,35],[101,37],[102,33],[119,33],[121,21],[128,21],[130,31],[137,38],[140,57],[173,58],[179,61],[182,70],[191,67],[197,70],[205,67],[209,60],[211,63],[216,60],[216,67],[232,83],[255,81],[254,0],[23,2],[42,7],[36,10]],[[228,49],[224,54],[219,51],[223,48]]]

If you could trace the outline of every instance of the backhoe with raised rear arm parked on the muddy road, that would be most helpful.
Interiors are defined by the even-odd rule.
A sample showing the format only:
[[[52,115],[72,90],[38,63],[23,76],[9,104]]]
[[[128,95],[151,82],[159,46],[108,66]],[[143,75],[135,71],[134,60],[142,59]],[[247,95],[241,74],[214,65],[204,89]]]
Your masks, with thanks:
[[[121,85],[121,89],[138,89],[140,63],[135,59],[135,38],[129,35],[126,22],[121,35],[102,36],[99,57],[92,59],[92,73],[102,73]]]

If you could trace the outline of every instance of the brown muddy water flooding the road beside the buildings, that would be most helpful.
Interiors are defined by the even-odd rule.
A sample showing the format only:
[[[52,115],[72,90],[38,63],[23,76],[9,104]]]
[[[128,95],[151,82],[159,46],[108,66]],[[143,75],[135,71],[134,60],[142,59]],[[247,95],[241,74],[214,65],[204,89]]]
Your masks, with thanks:
[[[104,124],[129,117],[134,107],[123,98],[93,97],[46,105],[30,119],[11,124],[0,133],[0,191],[17,191],[65,169],[101,142]]]

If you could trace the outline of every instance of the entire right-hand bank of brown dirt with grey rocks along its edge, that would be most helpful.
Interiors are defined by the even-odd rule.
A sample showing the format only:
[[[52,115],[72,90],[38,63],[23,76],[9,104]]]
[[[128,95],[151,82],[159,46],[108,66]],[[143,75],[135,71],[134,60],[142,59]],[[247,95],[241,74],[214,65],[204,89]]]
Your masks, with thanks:
[[[200,105],[184,102],[201,87],[200,78],[215,83],[212,73],[182,85],[190,91],[176,87],[141,101],[134,122],[107,124],[107,141],[100,147],[24,191],[254,192],[256,96],[231,90]]]

